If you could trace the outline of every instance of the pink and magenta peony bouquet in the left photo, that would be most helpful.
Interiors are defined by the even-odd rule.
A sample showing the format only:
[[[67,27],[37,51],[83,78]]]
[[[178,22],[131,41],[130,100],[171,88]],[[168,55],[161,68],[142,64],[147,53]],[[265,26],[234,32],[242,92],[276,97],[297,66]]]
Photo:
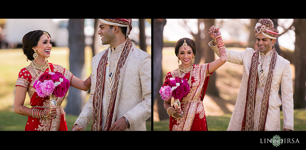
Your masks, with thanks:
[[[52,94],[63,97],[70,87],[70,82],[60,72],[45,72],[34,82],[33,87],[39,97]]]

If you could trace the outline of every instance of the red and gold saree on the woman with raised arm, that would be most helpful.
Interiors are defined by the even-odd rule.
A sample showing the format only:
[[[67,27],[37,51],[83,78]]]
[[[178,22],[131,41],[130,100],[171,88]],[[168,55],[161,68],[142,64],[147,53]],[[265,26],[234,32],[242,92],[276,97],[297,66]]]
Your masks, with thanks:
[[[191,87],[181,102],[183,116],[174,118],[170,116],[170,131],[207,131],[206,117],[203,107],[203,98],[207,89],[209,76],[208,64],[193,65],[191,76]],[[174,72],[166,74],[166,79],[175,78]],[[189,80],[190,72],[186,73],[183,79]]]

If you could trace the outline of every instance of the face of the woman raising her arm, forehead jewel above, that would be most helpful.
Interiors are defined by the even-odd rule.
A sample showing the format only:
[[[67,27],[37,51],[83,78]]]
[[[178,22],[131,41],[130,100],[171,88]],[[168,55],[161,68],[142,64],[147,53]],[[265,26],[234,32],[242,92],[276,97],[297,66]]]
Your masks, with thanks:
[[[178,57],[180,57],[180,60],[182,61],[182,67],[187,68],[191,65],[192,60],[192,49],[190,46],[186,46],[186,49],[184,46],[181,46],[178,50]]]

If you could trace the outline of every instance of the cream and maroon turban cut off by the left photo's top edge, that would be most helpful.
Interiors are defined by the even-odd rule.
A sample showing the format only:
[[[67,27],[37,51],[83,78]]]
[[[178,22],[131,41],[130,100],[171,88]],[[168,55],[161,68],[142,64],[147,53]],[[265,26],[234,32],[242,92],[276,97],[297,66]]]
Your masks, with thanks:
[[[132,30],[132,19],[100,19],[103,24],[119,27],[127,27],[125,38],[129,36]]]

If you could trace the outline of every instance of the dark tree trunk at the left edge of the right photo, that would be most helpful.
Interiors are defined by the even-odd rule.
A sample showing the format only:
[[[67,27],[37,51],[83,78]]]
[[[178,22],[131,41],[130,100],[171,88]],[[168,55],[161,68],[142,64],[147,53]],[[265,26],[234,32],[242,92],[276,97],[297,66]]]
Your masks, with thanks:
[[[169,119],[169,115],[163,107],[163,100],[159,95],[164,79],[162,77],[162,33],[165,25],[166,19],[153,19],[153,100],[157,101],[160,120]]]

